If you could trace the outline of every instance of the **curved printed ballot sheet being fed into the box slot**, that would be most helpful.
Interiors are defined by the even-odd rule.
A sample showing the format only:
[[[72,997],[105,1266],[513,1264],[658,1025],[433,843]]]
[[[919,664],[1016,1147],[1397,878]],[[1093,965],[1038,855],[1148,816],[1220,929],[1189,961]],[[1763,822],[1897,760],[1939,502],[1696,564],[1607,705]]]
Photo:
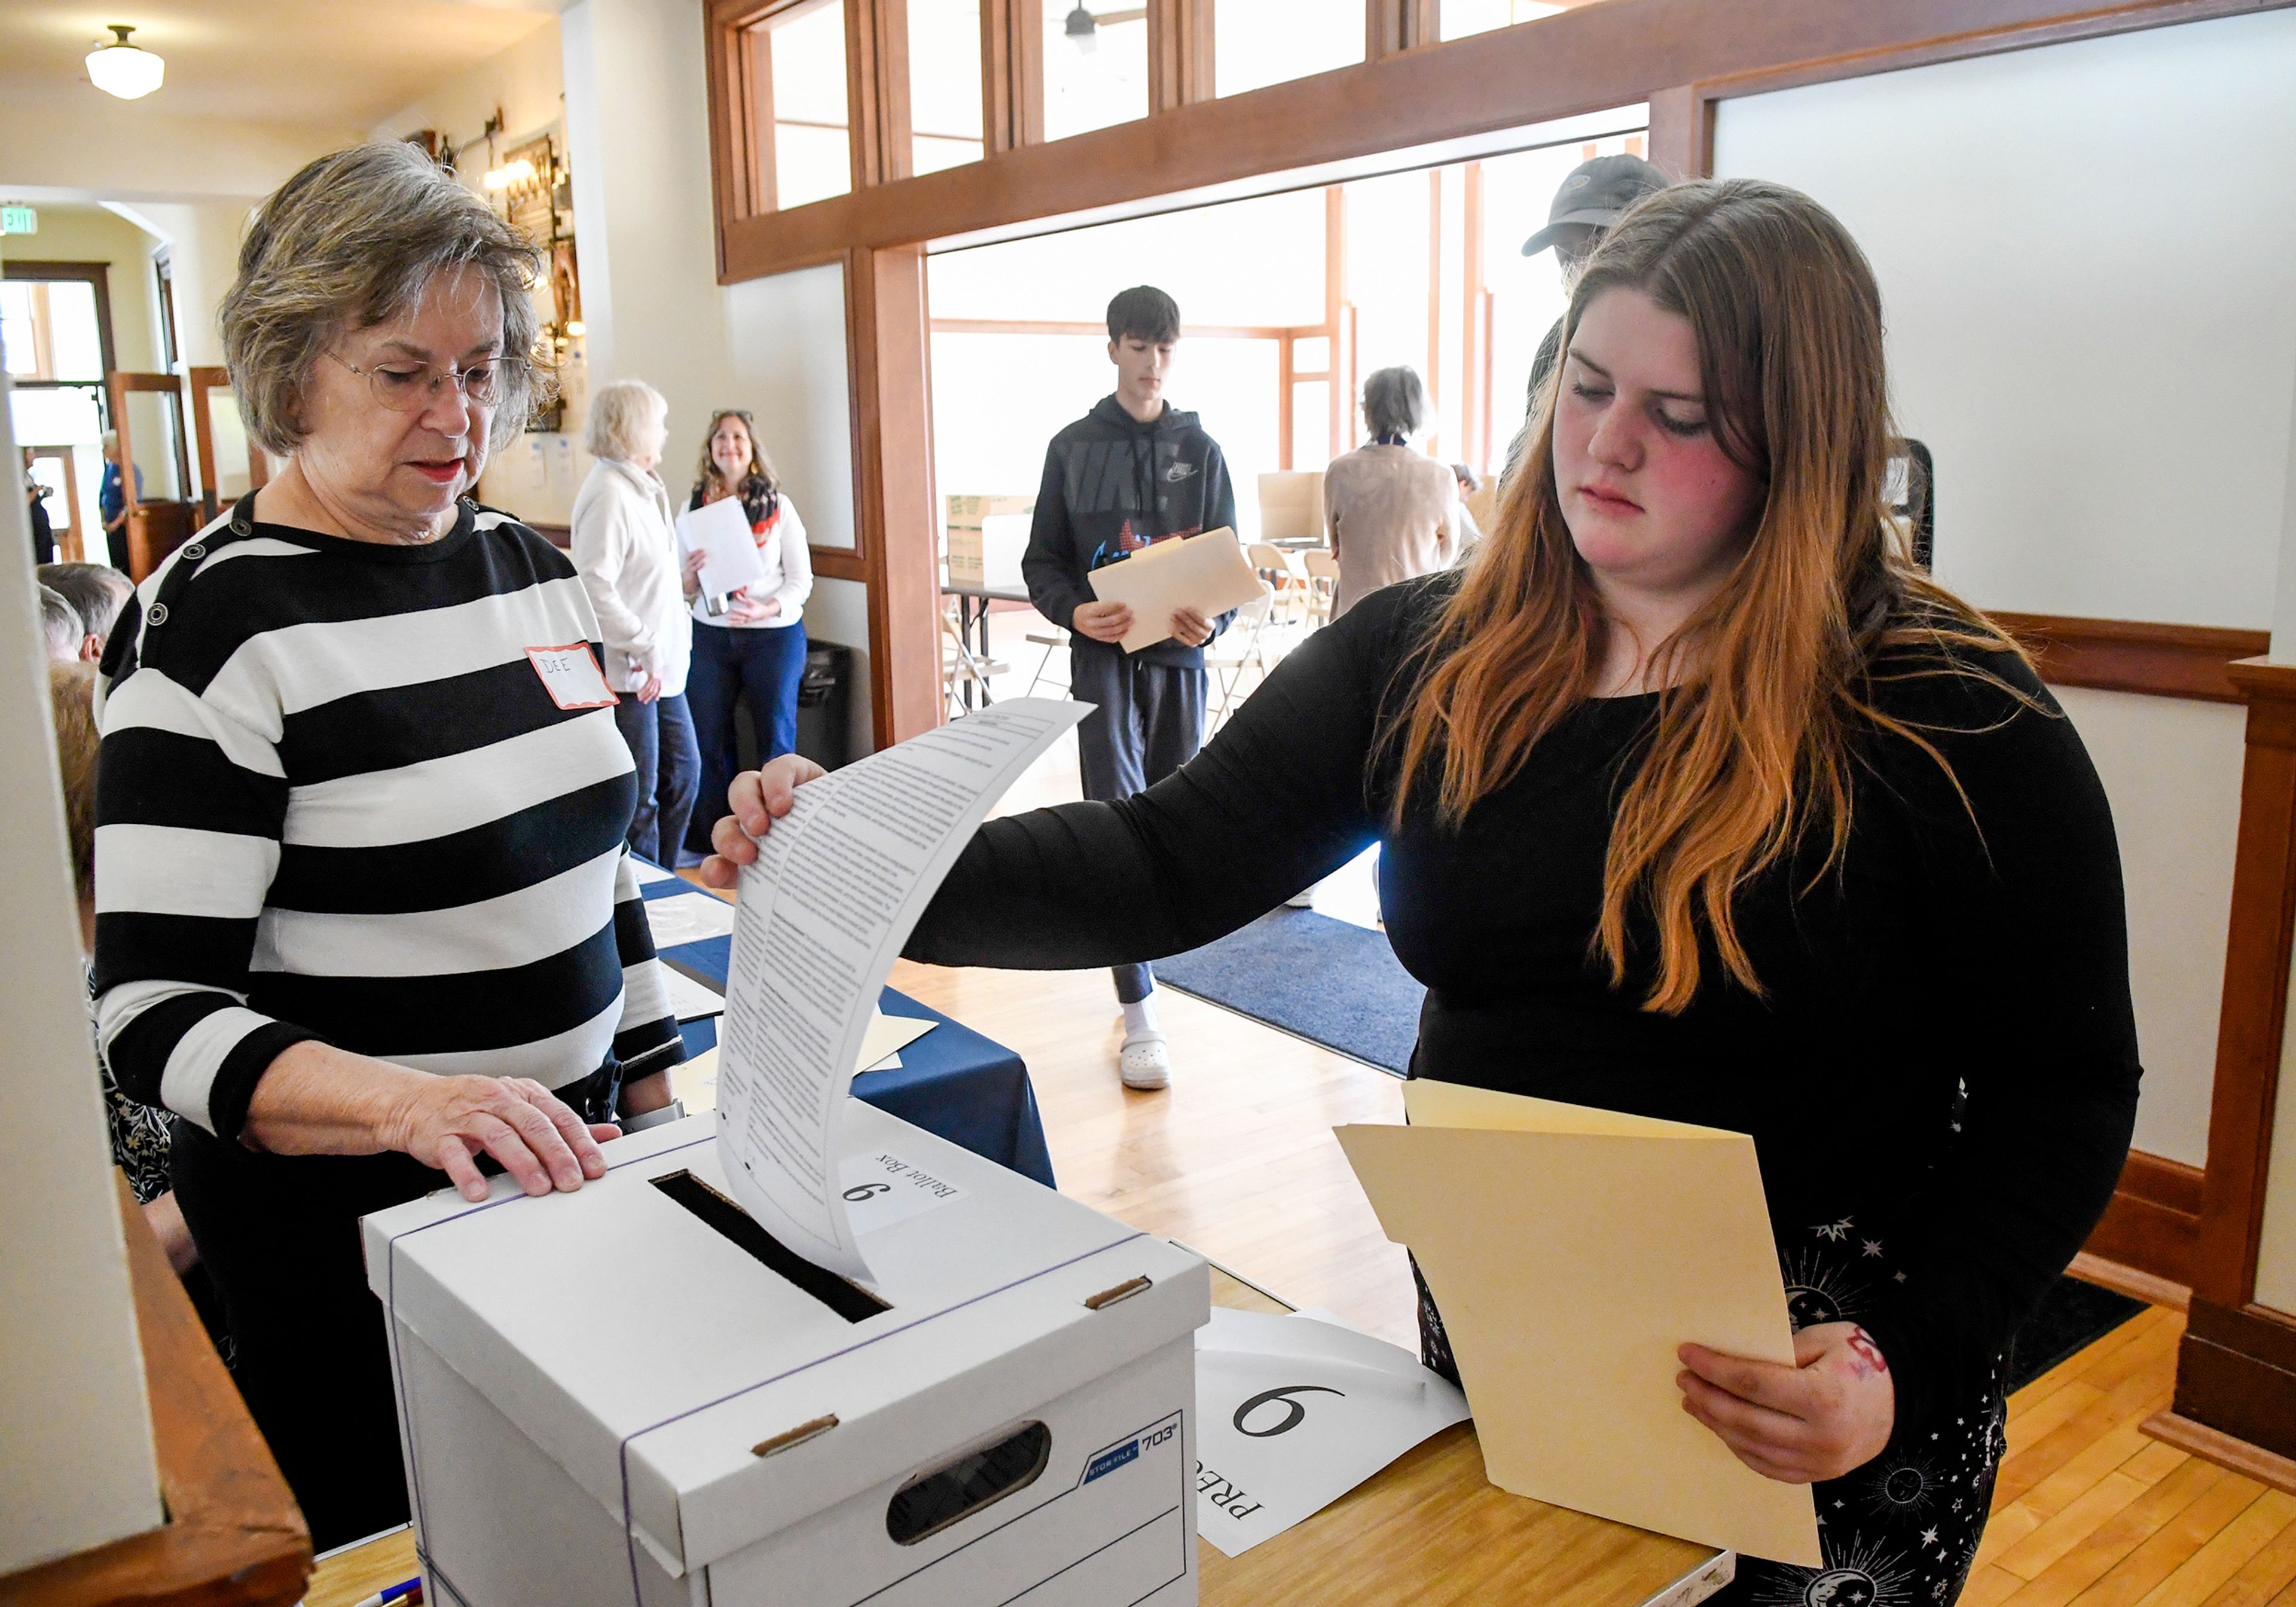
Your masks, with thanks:
[[[829,771],[797,790],[742,868],[719,1143],[735,1198],[806,1260],[870,1276],[845,1210],[838,1116],[877,994],[980,817],[1091,709],[1013,698]]]

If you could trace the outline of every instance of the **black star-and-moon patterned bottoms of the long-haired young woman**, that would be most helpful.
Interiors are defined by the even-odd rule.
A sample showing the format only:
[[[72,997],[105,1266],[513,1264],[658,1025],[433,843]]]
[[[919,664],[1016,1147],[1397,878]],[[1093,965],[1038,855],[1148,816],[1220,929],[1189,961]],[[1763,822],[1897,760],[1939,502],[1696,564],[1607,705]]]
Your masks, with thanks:
[[[1855,1219],[1825,1221],[1807,1244],[1779,1251],[1786,1309],[1795,1332],[1818,1322],[1855,1322],[1878,1304],[1878,1290],[1903,1283],[1883,1237],[1862,1237]],[[1458,1364],[1419,1265],[1419,1352],[1453,1384]],[[1890,1446],[1844,1478],[1814,1488],[1818,1547],[1825,1568],[1791,1568],[1756,1556],[1738,1559],[1738,1577],[1713,1607],[1949,1607],[1961,1598],[1993,1506],[1993,1474],[2007,1439],[2002,1382],[1995,1359],[1984,1377],[1942,1389],[1929,1421],[1899,1423]]]

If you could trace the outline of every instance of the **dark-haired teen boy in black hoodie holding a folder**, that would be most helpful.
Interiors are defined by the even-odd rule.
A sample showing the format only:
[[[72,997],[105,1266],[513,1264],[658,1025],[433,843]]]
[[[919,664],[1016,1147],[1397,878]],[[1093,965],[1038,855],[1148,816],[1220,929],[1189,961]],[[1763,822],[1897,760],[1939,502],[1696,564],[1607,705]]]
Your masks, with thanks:
[[[1180,769],[1203,746],[1203,643],[1233,615],[1205,620],[1194,608],[1171,615],[1171,641],[1139,652],[1116,643],[1132,629],[1132,608],[1093,601],[1086,576],[1139,549],[1235,528],[1235,487],[1219,443],[1194,413],[1164,402],[1171,349],[1180,344],[1180,308],[1153,285],[1109,303],[1109,360],[1116,395],[1052,438],[1035,523],[1019,569],[1029,599],[1068,627],[1070,691],[1100,707],[1077,728],[1084,797],[1127,799]],[[1143,964],[1116,966],[1125,1040],[1116,1068],[1127,1088],[1171,1081],[1171,1049],[1155,1024],[1155,976]]]

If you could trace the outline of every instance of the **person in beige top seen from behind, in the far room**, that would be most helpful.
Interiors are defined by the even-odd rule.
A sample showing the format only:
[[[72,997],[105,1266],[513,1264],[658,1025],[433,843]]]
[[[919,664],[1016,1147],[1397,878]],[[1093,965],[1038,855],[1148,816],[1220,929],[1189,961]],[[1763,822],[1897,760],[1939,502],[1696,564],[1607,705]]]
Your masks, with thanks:
[[[1426,420],[1417,370],[1382,367],[1364,381],[1371,443],[1322,471],[1322,519],[1339,560],[1334,620],[1382,585],[1446,569],[1458,551],[1458,480],[1410,448]]]

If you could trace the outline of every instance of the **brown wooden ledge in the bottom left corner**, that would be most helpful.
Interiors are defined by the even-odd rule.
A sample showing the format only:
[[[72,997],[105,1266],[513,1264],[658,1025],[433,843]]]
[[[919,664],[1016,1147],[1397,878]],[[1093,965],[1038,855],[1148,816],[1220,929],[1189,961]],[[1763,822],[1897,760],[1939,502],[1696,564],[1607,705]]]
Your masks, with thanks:
[[[129,1283],[168,1522],[0,1577],[0,1602],[292,1607],[310,1579],[303,1513],[124,1178],[119,1226],[129,1242]]]

